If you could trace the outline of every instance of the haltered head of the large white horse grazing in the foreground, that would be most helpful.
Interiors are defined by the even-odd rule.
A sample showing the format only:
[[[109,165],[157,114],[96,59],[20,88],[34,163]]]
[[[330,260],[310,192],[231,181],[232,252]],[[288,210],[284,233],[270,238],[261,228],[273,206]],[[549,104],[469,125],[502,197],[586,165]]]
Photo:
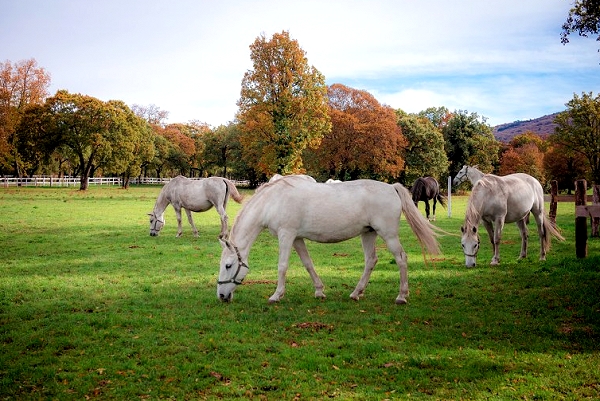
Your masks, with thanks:
[[[239,249],[227,238],[219,238],[223,251],[219,267],[219,280],[217,281],[217,298],[223,302],[233,299],[233,292],[250,271],[248,265],[242,260]]]

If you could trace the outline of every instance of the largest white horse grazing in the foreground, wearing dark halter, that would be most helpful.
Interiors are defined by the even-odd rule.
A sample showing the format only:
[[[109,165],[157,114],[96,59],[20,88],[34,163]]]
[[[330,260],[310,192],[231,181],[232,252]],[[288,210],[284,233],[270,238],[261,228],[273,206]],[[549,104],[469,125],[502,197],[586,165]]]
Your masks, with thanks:
[[[381,236],[394,255],[400,270],[400,293],[396,303],[406,303],[408,296],[407,258],[398,238],[400,214],[404,213],[417,238],[431,254],[439,252],[434,227],[423,217],[400,184],[358,180],[336,185],[314,183],[289,176],[265,184],[238,214],[230,237],[221,240],[223,252],[217,297],[230,301],[237,285],[248,274],[248,255],[263,229],[279,240],[278,280],[269,302],[279,301],[285,293],[285,275],[292,247],[308,271],[315,297],[324,298],[323,283],[315,272],[304,239],[323,243],[341,242],[360,235],[365,256],[365,269],[350,294],[358,300],[375,263],[375,240]]]

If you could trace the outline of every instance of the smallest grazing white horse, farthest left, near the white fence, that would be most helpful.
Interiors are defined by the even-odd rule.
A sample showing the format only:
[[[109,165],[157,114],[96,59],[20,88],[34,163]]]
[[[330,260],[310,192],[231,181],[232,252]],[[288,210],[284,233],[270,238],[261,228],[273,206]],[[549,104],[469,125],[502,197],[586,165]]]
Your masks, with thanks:
[[[226,178],[209,177],[200,180],[191,180],[177,176],[169,181],[158,194],[150,216],[150,235],[157,236],[165,225],[164,212],[169,204],[173,205],[177,215],[177,237],[181,237],[181,209],[185,209],[188,221],[192,226],[194,236],[198,236],[198,229],[192,219],[192,212],[205,212],[215,207],[221,217],[221,233],[219,237],[227,236],[227,201],[229,197],[240,203],[244,198],[235,187],[235,184]]]

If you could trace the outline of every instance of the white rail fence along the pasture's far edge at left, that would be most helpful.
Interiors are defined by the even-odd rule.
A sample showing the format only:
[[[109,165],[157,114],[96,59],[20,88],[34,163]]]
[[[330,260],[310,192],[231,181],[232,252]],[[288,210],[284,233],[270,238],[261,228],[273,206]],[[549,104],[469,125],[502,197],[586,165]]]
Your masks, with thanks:
[[[130,185],[138,184],[166,184],[171,178],[136,177],[131,178]],[[237,186],[248,186],[248,181],[233,181]],[[79,177],[0,177],[0,185],[7,187],[76,187],[81,184]],[[120,177],[91,177],[89,185],[122,185]]]

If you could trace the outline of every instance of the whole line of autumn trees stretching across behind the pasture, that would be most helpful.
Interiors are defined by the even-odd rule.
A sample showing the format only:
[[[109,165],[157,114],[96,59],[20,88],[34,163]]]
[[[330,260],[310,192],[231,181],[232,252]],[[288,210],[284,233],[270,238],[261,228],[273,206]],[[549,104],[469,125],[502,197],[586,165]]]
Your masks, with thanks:
[[[463,164],[542,183],[600,182],[600,99],[575,95],[548,138],[525,133],[498,142],[485,117],[432,107],[406,113],[370,93],[325,85],[288,32],[250,46],[233,122],[167,124],[155,105],[131,107],[59,90],[34,59],[0,63],[0,174],[221,175],[254,185],[275,173],[319,180],[373,178],[406,185],[455,175]]]

